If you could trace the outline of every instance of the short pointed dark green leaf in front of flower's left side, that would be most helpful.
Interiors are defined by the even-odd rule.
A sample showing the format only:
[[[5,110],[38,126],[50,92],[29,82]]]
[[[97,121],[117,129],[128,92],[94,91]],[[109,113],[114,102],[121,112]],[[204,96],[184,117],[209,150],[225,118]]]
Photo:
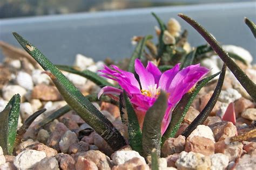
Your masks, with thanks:
[[[140,131],[138,118],[125,91],[123,94],[128,116],[129,145],[132,147],[132,150],[142,154],[142,131]]]

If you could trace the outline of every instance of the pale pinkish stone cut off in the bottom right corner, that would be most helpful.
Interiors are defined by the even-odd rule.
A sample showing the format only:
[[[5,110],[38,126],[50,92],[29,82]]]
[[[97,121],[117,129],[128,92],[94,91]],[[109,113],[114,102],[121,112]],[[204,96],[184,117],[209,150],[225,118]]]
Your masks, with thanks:
[[[238,164],[235,166],[237,170],[253,170],[255,169],[256,159],[255,155],[244,154],[239,160]]]

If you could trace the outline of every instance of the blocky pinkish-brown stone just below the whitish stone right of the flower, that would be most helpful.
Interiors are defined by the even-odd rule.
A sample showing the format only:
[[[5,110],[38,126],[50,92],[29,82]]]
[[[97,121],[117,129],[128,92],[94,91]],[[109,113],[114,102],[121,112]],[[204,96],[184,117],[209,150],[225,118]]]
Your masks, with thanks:
[[[187,139],[185,151],[212,155],[214,154],[214,142],[209,138],[194,136],[191,139]]]

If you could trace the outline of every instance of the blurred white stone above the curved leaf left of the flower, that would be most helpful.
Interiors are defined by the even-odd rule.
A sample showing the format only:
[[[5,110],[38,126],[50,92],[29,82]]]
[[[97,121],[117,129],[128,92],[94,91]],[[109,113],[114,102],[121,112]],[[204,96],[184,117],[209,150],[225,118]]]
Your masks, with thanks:
[[[82,54],[77,54],[75,62],[73,66],[80,68],[81,70],[85,70],[87,67],[94,65],[94,61],[92,58],[87,58]]]

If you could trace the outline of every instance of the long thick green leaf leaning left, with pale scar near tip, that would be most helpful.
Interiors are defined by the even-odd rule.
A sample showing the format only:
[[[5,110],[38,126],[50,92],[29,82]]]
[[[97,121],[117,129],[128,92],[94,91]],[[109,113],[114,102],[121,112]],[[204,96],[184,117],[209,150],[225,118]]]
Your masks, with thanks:
[[[55,67],[35,46],[19,34],[13,33],[19,44],[35,59],[77,114],[102,136],[113,150],[125,145],[125,139],[113,124]]]

